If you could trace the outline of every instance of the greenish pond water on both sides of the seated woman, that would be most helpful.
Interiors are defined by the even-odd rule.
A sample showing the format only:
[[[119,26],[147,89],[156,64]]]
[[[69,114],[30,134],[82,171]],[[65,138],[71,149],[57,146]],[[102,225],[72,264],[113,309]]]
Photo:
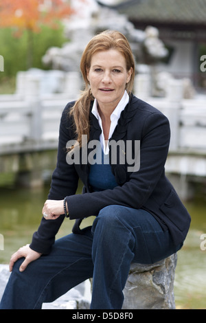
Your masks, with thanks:
[[[47,186],[38,190],[0,188],[0,263],[9,263],[13,252],[31,242],[48,190]],[[206,203],[202,199],[185,206],[192,216],[192,225],[178,253],[176,308],[206,309]],[[86,224],[91,221],[93,218],[88,218]],[[70,233],[73,222],[65,219],[57,237]]]

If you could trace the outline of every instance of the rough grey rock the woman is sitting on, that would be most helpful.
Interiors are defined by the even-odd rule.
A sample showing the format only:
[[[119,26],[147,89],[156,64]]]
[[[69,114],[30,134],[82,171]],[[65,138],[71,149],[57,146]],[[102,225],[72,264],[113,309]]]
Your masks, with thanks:
[[[122,309],[175,309],[176,254],[153,265],[133,263],[124,288]]]

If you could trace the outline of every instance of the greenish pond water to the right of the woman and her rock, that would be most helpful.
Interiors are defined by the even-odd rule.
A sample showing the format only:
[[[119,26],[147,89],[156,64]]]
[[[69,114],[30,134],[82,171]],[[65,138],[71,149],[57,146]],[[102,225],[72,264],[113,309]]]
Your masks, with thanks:
[[[206,250],[201,250],[201,235],[206,233],[206,205],[205,201],[194,201],[186,206],[192,215],[192,224],[178,253],[176,305],[180,309],[206,309]]]

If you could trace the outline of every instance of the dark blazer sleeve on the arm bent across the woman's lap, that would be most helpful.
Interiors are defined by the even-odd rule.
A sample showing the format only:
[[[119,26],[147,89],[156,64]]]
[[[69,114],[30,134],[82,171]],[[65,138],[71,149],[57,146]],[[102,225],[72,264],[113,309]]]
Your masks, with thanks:
[[[130,174],[129,181],[113,190],[85,193],[67,197],[69,218],[98,215],[107,205],[124,205],[139,209],[152,194],[161,175],[168,156],[170,144],[170,124],[160,111],[148,113],[143,122],[133,120],[129,125],[130,137],[139,140],[137,127],[141,126],[140,168]]]

